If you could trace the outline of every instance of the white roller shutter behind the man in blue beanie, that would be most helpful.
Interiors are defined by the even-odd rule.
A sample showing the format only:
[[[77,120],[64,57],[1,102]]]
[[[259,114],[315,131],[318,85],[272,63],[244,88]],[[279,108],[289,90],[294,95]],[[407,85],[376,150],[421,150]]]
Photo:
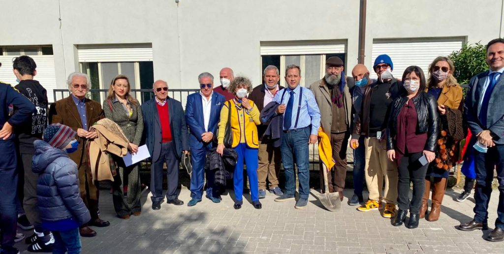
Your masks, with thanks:
[[[388,54],[394,63],[394,77],[402,77],[407,67],[415,65],[422,68],[427,78],[432,60],[460,50],[464,41],[464,38],[375,39],[371,64],[377,56]],[[370,73],[372,78],[376,78],[374,71],[370,70]]]

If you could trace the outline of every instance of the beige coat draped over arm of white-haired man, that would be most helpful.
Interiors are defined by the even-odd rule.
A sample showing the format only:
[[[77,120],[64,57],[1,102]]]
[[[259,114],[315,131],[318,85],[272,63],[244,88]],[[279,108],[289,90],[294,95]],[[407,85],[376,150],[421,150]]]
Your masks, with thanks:
[[[89,144],[88,158],[93,181],[113,181],[116,167],[111,156],[113,154],[124,157],[128,153],[128,139],[124,136],[117,123],[108,118],[97,121],[92,126],[92,129],[98,133],[98,138]]]

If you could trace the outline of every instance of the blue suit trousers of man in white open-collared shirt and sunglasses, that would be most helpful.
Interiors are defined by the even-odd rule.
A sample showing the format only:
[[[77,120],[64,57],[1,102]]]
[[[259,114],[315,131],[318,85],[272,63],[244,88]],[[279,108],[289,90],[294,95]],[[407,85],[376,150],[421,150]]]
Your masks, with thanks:
[[[214,184],[214,172],[205,170],[205,158],[209,149],[191,148],[191,164],[193,165],[193,174],[191,175],[191,198],[201,200],[203,197],[203,185],[205,184],[205,174],[207,176],[207,197],[219,198],[217,188]]]

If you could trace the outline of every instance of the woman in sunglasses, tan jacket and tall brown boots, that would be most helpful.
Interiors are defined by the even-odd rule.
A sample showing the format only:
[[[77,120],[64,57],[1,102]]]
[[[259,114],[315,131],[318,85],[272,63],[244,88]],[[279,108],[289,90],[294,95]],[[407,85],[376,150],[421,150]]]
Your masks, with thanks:
[[[457,79],[453,77],[454,71],[453,61],[445,56],[436,57],[429,66],[430,77],[427,81],[427,93],[437,100],[440,135],[436,142],[436,158],[427,168],[425,193],[420,208],[420,218],[425,217],[427,221],[439,219],[448,174],[450,168],[458,160],[459,141],[464,138],[462,111],[459,110],[462,101],[462,88],[457,84]],[[432,207],[426,216],[431,185]]]

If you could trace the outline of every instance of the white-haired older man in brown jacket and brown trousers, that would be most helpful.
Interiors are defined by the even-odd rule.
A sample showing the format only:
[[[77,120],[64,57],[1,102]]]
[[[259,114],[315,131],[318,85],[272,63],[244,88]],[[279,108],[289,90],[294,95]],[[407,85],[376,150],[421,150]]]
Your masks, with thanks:
[[[88,75],[75,72],[67,79],[70,96],[53,103],[49,108],[49,122],[61,123],[70,126],[77,136],[79,148],[69,157],[77,164],[79,170],[79,190],[81,198],[91,214],[91,220],[81,226],[80,234],[85,237],[96,235],[96,231],[89,226],[106,227],[108,221],[98,217],[98,188],[91,177],[91,168],[87,163],[86,143],[98,137],[96,131],[88,131],[91,125],[99,119],[105,118],[101,104],[86,98],[91,81]]]

